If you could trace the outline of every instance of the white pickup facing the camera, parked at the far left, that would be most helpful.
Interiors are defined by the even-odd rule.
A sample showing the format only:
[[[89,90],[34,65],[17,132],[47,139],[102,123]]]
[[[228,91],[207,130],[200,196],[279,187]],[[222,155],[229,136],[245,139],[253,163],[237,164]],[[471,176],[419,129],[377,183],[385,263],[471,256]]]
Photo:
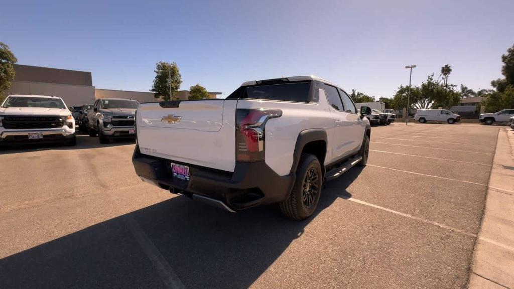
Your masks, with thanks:
[[[75,119],[60,97],[10,95],[0,106],[0,144],[63,141],[75,146]]]

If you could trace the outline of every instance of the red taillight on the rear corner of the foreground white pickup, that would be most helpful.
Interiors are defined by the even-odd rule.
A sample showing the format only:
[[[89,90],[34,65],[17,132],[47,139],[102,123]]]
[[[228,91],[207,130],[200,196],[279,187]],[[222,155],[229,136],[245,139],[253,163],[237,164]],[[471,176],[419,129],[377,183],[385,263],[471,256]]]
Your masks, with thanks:
[[[280,110],[236,110],[235,145],[237,161],[264,159],[266,121],[282,116]]]

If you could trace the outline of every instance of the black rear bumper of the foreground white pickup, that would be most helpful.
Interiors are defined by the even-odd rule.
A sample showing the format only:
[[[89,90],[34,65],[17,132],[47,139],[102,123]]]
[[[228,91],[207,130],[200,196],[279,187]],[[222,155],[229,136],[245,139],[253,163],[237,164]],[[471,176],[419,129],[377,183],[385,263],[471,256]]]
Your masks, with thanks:
[[[237,161],[232,173],[144,155],[138,146],[132,162],[138,176],[162,189],[189,196],[207,196],[233,210],[283,201],[295,181],[291,175],[278,175],[264,161]],[[171,162],[189,167],[189,181],[173,177]]]

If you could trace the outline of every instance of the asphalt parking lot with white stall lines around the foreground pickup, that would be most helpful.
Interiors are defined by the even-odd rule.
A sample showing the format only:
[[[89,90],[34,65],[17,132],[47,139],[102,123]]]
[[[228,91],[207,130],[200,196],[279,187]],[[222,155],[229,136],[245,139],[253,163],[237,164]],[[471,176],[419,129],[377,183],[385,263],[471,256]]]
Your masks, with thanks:
[[[2,150],[0,287],[465,287],[498,131],[373,127],[304,222],[142,183],[132,142]]]

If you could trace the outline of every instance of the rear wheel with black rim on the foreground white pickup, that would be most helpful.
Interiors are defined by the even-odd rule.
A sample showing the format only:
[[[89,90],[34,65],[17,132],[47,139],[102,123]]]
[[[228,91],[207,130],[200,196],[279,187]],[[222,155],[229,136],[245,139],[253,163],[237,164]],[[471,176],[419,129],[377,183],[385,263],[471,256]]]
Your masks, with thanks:
[[[302,154],[291,193],[280,203],[282,213],[296,220],[309,218],[318,206],[322,183],[318,158],[311,154]]]

